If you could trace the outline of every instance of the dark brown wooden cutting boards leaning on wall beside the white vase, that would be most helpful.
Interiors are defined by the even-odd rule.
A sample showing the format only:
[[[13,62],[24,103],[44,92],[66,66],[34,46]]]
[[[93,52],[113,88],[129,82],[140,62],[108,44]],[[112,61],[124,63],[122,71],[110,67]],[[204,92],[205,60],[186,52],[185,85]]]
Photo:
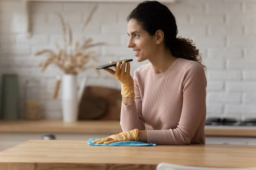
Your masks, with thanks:
[[[120,120],[121,91],[102,86],[87,86],[79,104],[79,120]]]

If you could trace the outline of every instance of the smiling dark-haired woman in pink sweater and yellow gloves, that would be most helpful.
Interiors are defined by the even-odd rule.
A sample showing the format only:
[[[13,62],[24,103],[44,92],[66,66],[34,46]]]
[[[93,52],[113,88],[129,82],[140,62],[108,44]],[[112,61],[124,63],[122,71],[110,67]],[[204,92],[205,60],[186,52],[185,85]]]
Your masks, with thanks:
[[[135,70],[134,78],[129,62],[105,69],[121,83],[123,132],[94,143],[205,143],[205,66],[192,41],[176,37],[177,32],[172,12],[157,1],[144,1],[129,14],[128,48],[138,62],[150,63]],[[145,130],[145,123],[153,130]]]

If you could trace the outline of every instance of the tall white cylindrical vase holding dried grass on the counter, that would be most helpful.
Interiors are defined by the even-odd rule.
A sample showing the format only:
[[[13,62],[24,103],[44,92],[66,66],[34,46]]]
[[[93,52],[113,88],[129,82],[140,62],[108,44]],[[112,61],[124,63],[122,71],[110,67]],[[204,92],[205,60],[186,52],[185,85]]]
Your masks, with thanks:
[[[64,74],[62,77],[62,113],[64,122],[78,119],[78,85],[76,74]]]

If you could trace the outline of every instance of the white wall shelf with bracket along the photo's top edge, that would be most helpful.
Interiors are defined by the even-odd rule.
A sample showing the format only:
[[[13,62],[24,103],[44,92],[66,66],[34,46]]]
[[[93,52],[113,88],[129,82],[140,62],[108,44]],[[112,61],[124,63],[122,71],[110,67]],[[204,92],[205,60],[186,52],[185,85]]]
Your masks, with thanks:
[[[32,1],[47,1],[47,2],[97,2],[97,3],[140,3],[143,0],[11,0],[11,1],[23,1],[26,6],[26,31],[27,38],[32,37],[32,29],[30,22],[30,2]],[[175,3],[176,0],[159,0],[160,3]]]

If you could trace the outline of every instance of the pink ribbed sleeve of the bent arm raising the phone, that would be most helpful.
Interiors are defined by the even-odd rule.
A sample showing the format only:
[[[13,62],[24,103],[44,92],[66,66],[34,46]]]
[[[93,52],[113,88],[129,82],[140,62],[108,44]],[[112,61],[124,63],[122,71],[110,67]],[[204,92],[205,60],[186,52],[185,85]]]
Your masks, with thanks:
[[[120,125],[123,132],[134,130],[135,128],[139,130],[145,130],[145,122],[142,116],[142,100],[140,96],[139,88],[139,70],[134,71],[134,92],[135,92],[135,103],[130,105],[125,105],[122,102],[121,105],[121,116]]]

